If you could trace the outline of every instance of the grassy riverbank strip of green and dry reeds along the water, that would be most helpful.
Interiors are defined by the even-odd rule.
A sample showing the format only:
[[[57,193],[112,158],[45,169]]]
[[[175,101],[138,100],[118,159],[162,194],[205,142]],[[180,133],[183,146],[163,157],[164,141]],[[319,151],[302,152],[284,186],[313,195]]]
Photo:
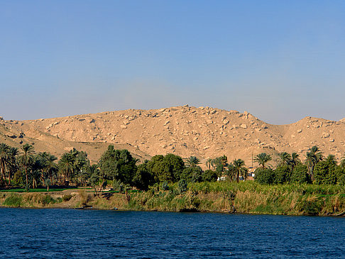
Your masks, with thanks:
[[[168,189],[127,194],[90,190],[63,192],[0,192],[0,205],[28,208],[121,209],[136,211],[203,211],[246,214],[338,216],[345,212],[345,188],[339,185],[278,184],[256,182],[202,182],[182,192]]]

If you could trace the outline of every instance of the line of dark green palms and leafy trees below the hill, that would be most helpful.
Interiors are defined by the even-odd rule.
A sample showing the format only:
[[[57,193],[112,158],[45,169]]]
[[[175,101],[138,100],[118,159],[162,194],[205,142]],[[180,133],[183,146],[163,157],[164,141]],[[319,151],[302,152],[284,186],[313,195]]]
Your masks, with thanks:
[[[297,153],[282,152],[272,155],[260,153],[253,159],[258,163],[255,180],[262,184],[287,182],[315,184],[344,184],[345,159],[337,164],[334,155],[324,158],[314,146],[301,162]],[[273,168],[270,162],[276,162]],[[139,163],[128,150],[116,150],[113,145],[102,154],[97,164],[91,165],[87,153],[70,150],[58,160],[50,153],[35,153],[33,145],[20,149],[0,144],[0,186],[24,187],[26,190],[51,186],[89,186],[98,189],[111,185],[116,189],[136,187],[147,190],[154,184],[179,182],[214,182],[221,176],[226,180],[246,180],[248,167],[241,159],[228,162],[226,155],[206,161],[202,170],[200,160],[190,156],[183,160],[174,154],[155,155]]]

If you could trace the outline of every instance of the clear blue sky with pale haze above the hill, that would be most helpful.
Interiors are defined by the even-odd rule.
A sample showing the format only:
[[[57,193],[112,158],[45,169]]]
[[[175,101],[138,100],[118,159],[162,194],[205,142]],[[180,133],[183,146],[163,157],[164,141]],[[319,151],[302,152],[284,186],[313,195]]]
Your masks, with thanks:
[[[345,1],[0,0],[0,116],[345,117]]]

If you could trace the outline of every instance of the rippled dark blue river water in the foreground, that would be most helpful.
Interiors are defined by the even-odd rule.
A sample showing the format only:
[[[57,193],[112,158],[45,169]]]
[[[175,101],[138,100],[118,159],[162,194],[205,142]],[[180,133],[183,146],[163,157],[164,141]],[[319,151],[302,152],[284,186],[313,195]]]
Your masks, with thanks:
[[[0,258],[345,258],[345,218],[0,209]]]

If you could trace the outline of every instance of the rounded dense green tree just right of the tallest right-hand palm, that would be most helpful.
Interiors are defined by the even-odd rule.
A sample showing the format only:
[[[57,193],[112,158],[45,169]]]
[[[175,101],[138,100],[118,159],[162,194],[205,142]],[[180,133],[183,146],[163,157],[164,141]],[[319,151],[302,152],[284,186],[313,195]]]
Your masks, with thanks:
[[[334,164],[327,160],[318,162],[314,167],[314,182],[316,184],[336,184]]]

